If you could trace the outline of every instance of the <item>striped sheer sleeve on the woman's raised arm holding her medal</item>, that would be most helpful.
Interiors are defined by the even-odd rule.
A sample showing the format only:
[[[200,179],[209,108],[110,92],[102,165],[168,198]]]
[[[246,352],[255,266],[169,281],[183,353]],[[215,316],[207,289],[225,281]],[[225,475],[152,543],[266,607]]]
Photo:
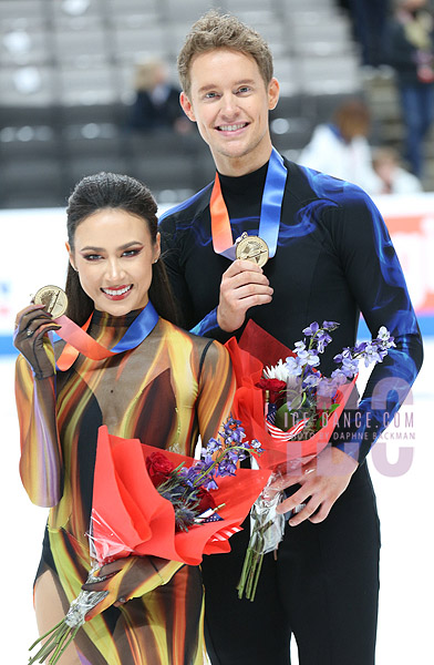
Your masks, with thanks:
[[[55,376],[35,379],[30,365],[19,356],[16,399],[20,426],[20,474],[31,501],[55,505],[62,495],[63,463],[59,440]]]

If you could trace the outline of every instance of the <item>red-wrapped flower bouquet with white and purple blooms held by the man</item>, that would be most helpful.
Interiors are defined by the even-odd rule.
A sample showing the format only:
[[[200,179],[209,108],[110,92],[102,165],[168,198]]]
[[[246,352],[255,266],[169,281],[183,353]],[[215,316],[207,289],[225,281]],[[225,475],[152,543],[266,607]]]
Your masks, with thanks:
[[[320,355],[331,341],[330,332],[338,327],[334,321],[323,321],[322,326],[314,321],[303,329],[303,340],[289,351],[249,321],[239,347],[232,340],[227,345],[237,374],[234,411],[249,423],[249,436],[260,438],[265,451],[259,466],[273,470],[270,482],[326,448],[354,389],[359,361],[363,359],[366,367],[381,362],[394,346],[393,337],[382,327],[375,339],[344,348],[335,356],[338,367],[326,377],[319,370]],[[270,366],[256,361],[248,352],[255,349],[256,355],[269,359],[277,348],[287,352],[278,360],[275,356]],[[252,507],[251,538],[238,584],[240,598],[255,598],[262,556],[275,550],[283,536],[285,516],[276,513],[282,500],[282,492],[268,499],[265,491]],[[301,509],[302,505],[297,507],[294,512]]]

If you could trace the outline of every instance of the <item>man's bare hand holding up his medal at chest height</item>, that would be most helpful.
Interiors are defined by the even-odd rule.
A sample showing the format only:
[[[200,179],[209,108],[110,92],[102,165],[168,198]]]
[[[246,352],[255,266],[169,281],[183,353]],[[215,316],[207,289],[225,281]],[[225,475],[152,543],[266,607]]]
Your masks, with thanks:
[[[273,289],[262,268],[252,260],[237,259],[223,274],[217,323],[221,330],[238,330],[250,307],[271,303]]]

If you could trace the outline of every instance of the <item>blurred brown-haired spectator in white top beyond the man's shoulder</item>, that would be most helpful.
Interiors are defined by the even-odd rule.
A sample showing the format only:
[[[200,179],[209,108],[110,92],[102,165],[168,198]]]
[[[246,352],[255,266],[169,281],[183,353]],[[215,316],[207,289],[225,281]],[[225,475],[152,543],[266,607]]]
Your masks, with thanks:
[[[371,114],[364,102],[343,102],[334,111],[333,122],[316,127],[299,155],[299,164],[354,183],[369,194],[376,193],[380,182],[368,143],[370,124]]]

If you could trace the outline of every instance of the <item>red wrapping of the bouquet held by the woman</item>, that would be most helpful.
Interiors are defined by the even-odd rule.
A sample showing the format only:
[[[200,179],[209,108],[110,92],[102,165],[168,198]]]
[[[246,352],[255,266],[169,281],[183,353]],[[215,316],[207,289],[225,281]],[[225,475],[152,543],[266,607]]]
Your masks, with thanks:
[[[270,477],[267,470],[238,469],[235,477],[218,478],[211,494],[221,521],[195,524],[187,532],[175,532],[175,512],[153,485],[146,457],[157,449],[138,439],[108,434],[99,430],[91,542],[99,563],[135,555],[155,555],[189,565],[198,565],[204,554],[230,551],[228,539],[240,531]],[[162,450],[177,467],[190,467],[195,460]]]

